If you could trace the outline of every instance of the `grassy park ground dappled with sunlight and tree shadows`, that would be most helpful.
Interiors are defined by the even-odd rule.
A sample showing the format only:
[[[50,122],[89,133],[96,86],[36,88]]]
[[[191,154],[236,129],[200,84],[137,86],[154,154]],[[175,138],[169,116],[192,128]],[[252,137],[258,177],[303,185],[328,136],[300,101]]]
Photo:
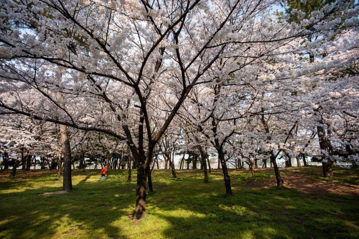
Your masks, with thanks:
[[[129,218],[136,178],[127,170],[73,171],[73,190],[62,188],[55,171],[36,170],[10,180],[0,171],[0,238],[359,238],[359,170],[321,167],[281,171],[286,189],[275,187],[273,169],[231,170],[233,196],[226,198],[223,175],[212,170],[209,184],[200,170],[154,170],[147,215]],[[132,172],[135,176],[135,172]],[[102,179],[103,180],[103,179]]]

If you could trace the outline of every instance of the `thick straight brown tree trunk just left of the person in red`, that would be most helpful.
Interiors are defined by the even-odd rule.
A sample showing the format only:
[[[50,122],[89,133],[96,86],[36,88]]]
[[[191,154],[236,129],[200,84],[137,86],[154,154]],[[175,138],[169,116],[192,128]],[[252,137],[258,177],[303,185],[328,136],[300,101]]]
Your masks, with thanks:
[[[60,125],[60,137],[62,143],[62,153],[64,153],[64,181],[62,182],[62,190],[68,192],[72,189],[71,147],[66,125]]]

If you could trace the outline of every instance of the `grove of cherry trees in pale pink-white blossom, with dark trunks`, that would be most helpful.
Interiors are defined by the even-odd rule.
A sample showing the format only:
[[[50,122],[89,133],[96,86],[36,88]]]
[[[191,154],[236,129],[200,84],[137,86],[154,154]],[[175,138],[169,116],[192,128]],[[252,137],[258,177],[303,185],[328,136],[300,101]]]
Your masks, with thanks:
[[[282,10],[274,10],[282,9]],[[180,168],[359,165],[354,0],[0,3],[2,166],[137,169],[133,217],[159,157]],[[11,162],[11,165],[9,164]],[[133,164],[132,164],[133,162]],[[63,164],[63,166],[62,166]],[[149,188],[152,190],[151,181]]]

